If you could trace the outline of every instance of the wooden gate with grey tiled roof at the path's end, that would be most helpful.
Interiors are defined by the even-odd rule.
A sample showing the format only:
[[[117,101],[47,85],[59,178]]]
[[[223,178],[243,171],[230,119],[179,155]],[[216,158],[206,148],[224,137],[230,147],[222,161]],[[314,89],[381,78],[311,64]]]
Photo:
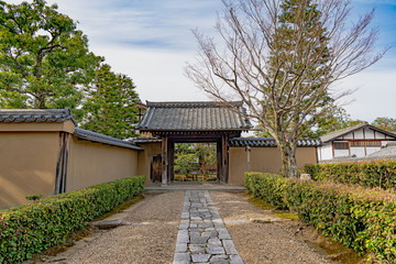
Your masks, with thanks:
[[[218,151],[218,180],[228,183],[228,140],[252,128],[241,101],[150,102],[140,133],[162,140],[162,175],[166,185],[174,180],[174,148],[178,142],[212,142]]]

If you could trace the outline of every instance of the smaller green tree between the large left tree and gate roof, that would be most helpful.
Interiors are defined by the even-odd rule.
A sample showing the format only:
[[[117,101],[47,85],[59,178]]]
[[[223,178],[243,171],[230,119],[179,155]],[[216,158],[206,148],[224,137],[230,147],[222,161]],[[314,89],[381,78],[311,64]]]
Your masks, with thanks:
[[[82,108],[81,128],[117,139],[133,138],[138,100],[131,78],[114,74],[107,64],[99,65]]]

